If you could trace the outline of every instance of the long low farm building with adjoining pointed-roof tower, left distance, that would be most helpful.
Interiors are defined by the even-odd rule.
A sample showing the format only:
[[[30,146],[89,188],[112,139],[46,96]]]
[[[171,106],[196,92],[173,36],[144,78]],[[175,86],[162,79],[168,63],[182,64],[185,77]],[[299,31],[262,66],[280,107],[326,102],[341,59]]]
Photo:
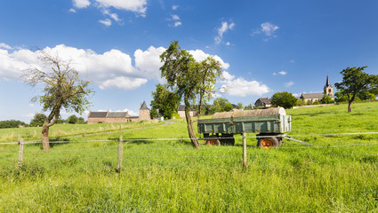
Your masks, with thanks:
[[[150,109],[143,101],[139,109],[139,116],[130,116],[129,112],[89,112],[88,123],[114,123],[114,122],[139,122],[142,120],[150,120]]]

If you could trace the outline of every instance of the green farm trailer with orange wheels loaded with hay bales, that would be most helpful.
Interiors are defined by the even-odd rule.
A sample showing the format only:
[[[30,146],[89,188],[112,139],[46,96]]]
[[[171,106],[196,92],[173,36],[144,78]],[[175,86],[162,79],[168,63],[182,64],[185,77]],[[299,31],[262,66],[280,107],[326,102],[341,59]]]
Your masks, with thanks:
[[[235,134],[259,133],[257,146],[282,145],[286,132],[292,130],[292,119],[283,107],[237,110],[213,114],[212,119],[199,120],[198,133],[209,145],[235,145]]]

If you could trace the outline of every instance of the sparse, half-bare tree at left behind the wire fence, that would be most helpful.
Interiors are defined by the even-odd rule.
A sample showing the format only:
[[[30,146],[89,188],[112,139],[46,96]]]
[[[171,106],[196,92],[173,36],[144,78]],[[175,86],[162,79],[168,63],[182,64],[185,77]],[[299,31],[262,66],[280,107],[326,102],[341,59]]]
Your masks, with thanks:
[[[60,59],[58,54],[52,56],[47,51],[38,53],[45,69],[30,67],[23,77],[32,86],[44,84],[43,95],[32,100],[39,101],[44,111],[50,111],[42,126],[42,146],[44,151],[48,151],[49,128],[58,121],[61,108],[67,112],[83,113],[90,104],[87,96],[92,91],[88,88],[89,82],[81,80],[76,69],[71,67],[71,61]]]

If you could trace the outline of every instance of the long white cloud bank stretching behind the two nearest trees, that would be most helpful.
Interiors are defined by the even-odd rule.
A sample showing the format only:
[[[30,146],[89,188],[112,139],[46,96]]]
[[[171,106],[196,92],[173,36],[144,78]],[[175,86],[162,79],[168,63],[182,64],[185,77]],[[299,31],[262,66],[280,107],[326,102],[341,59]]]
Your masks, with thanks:
[[[160,77],[162,63],[159,58],[165,51],[164,47],[150,46],[146,51],[134,51],[134,66],[132,57],[118,50],[96,53],[92,50],[77,49],[60,44],[52,48],[46,47],[43,51],[58,55],[60,59],[71,60],[71,66],[82,77],[98,85],[102,90],[108,88],[133,90],[151,79],[164,83]],[[198,61],[211,56],[200,50],[189,52]],[[0,49],[0,81],[20,79],[22,72],[27,70],[30,65],[42,67],[42,65],[38,65],[37,55],[37,51],[25,49],[15,51]],[[214,55],[213,58],[221,62],[223,69],[229,68],[229,64],[219,56]]]

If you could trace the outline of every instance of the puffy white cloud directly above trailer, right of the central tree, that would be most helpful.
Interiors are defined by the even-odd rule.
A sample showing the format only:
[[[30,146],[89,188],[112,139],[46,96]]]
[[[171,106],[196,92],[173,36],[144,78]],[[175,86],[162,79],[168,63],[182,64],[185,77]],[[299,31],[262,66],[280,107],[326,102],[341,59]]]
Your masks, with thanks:
[[[270,91],[269,87],[257,81],[246,81],[242,77],[235,78],[235,75],[230,75],[227,71],[222,73],[221,92],[226,92],[232,96],[245,97],[248,95],[259,95]]]

